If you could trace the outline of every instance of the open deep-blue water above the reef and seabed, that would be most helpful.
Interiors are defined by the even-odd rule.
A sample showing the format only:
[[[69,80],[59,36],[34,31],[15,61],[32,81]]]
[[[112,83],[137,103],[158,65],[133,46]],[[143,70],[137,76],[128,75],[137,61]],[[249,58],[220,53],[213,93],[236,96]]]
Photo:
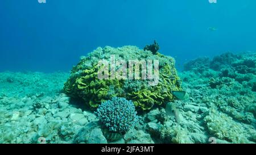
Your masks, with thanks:
[[[199,56],[255,51],[255,6],[254,0],[3,0],[0,71],[68,71],[99,46],[143,48],[154,39],[177,68]]]

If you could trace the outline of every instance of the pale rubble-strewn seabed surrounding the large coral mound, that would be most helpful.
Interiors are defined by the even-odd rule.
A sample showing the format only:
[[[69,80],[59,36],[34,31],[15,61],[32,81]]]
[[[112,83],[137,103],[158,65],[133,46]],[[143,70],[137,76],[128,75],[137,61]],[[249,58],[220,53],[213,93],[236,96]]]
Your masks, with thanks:
[[[200,70],[191,62],[179,72],[190,96],[174,102],[180,123],[156,107],[116,141],[105,139],[93,111],[61,92],[69,73],[2,72],[0,143],[256,143],[255,74],[225,76],[197,61]]]

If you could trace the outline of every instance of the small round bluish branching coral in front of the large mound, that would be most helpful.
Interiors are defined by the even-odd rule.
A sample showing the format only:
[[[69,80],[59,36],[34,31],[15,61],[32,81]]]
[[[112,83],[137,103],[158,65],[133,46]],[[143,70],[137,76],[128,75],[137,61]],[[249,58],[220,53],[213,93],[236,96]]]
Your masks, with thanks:
[[[125,133],[139,121],[133,102],[125,98],[107,100],[100,104],[95,114],[110,132]]]

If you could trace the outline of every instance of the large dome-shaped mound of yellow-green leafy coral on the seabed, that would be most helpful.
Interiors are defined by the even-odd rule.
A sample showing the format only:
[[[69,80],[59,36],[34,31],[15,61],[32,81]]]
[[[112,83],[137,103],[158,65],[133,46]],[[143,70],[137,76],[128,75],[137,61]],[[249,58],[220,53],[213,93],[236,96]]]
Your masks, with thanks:
[[[137,79],[99,79],[97,77],[98,62],[109,60],[114,55],[115,61],[125,60],[158,60],[159,83],[148,85],[146,80]],[[73,67],[71,76],[65,82],[64,92],[74,98],[80,98],[97,108],[101,102],[112,97],[123,97],[133,100],[135,107],[150,110],[154,105],[174,100],[172,90],[181,90],[180,78],[175,69],[175,60],[160,53],[154,55],[151,51],[143,51],[134,46],[121,48],[97,48],[88,56],[82,57],[79,64]],[[115,71],[117,68],[115,68]],[[139,70],[141,75],[141,70]]]

